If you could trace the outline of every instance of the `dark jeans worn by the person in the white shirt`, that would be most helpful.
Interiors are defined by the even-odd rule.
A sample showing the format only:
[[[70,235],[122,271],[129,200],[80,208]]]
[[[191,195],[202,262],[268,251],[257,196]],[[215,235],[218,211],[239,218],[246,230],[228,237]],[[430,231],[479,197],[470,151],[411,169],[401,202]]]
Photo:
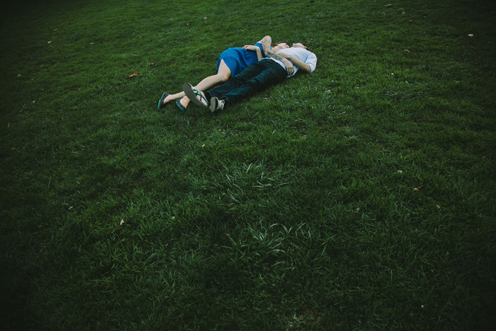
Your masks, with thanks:
[[[224,84],[206,91],[205,97],[208,101],[213,96],[217,96],[226,103],[237,103],[247,96],[252,96],[258,91],[283,81],[286,76],[286,69],[281,64],[273,60],[262,59],[249,65]]]

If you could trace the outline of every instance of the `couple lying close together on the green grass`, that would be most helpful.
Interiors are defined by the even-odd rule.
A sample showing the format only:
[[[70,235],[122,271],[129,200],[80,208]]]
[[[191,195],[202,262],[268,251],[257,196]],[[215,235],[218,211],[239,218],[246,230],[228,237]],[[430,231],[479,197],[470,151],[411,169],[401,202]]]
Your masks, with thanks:
[[[288,43],[280,42],[271,47],[271,41],[266,35],[255,45],[228,48],[219,55],[217,74],[206,77],[196,86],[184,83],[184,92],[164,92],[157,108],[177,100],[181,111],[186,111],[190,101],[217,111],[292,77],[298,69],[309,74],[315,70],[317,57],[303,44],[294,43],[289,47]]]

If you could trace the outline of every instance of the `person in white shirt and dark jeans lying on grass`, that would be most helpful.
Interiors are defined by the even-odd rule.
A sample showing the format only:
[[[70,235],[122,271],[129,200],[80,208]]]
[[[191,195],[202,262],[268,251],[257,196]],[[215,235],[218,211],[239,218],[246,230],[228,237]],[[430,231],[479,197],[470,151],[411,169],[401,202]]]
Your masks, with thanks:
[[[193,89],[191,84],[184,83],[184,93],[196,105],[208,107],[214,112],[228,104],[242,101],[268,86],[282,82],[287,77],[293,77],[298,70],[310,74],[317,66],[317,56],[301,43],[294,43],[293,47],[268,53],[269,58],[249,65],[215,89],[202,92]]]

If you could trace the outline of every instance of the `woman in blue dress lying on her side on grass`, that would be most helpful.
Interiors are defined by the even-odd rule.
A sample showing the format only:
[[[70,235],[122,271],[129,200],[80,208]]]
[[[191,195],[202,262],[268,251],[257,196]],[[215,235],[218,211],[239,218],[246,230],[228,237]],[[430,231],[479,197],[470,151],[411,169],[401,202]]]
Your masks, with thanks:
[[[198,91],[207,91],[215,86],[222,85],[227,82],[230,77],[235,77],[250,64],[256,63],[266,57],[266,54],[277,52],[278,50],[283,50],[289,47],[286,42],[276,43],[274,47],[271,47],[271,43],[271,36],[266,35],[264,38],[259,40],[258,43],[255,43],[255,45],[244,45],[244,47],[228,48],[218,57],[217,67],[215,68],[216,74],[204,78],[201,82],[194,86],[194,89]],[[176,105],[179,109],[181,109],[181,111],[186,111],[186,108],[191,101],[183,91],[176,94],[168,94],[167,92],[164,92],[159,100],[159,103],[157,104],[157,108],[160,109],[167,103],[174,100],[177,100]]]

